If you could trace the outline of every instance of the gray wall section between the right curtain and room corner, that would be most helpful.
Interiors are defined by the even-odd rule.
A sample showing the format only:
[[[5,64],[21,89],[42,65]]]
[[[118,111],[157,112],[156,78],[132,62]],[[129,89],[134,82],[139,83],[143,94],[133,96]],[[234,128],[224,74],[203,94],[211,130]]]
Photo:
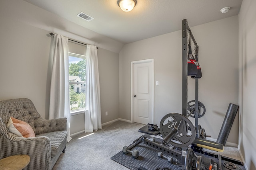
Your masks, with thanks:
[[[98,49],[102,123],[119,118],[118,54]],[[106,116],[106,111],[108,115]]]

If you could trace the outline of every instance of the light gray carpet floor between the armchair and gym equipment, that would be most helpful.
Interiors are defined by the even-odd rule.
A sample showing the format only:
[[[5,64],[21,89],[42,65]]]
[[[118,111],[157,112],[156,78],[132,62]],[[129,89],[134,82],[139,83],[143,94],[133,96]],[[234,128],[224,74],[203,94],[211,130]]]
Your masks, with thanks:
[[[111,157],[143,135],[138,132],[143,126],[116,121],[93,133],[76,135],[67,143],[66,152],[60,155],[53,170],[128,170]],[[218,154],[241,160],[235,147],[225,147],[224,152]]]

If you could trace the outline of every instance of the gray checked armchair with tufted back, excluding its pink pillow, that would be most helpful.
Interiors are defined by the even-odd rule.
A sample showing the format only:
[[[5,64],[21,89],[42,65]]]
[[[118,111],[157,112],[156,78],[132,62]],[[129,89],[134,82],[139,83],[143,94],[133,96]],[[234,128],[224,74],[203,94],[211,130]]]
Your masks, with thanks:
[[[10,116],[28,123],[36,137],[24,138],[10,133],[7,127]],[[66,118],[42,118],[26,98],[0,101],[0,159],[27,154],[30,163],[25,169],[51,170],[66,149],[66,122]]]

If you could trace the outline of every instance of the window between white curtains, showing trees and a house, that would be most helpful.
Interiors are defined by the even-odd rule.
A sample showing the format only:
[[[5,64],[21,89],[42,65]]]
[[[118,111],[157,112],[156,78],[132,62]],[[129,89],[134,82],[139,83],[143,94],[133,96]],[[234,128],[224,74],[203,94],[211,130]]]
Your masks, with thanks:
[[[71,113],[84,110],[86,93],[86,56],[69,53],[69,98]]]

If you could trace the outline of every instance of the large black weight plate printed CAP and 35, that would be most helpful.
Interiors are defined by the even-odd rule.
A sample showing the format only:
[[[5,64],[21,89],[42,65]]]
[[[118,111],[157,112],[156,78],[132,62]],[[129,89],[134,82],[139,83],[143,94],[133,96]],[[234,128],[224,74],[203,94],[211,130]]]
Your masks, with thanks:
[[[173,128],[178,132],[174,135],[170,144],[174,147],[187,147],[196,138],[196,130],[193,123],[184,115],[179,113],[168,113],[160,121],[161,135],[166,137]]]

